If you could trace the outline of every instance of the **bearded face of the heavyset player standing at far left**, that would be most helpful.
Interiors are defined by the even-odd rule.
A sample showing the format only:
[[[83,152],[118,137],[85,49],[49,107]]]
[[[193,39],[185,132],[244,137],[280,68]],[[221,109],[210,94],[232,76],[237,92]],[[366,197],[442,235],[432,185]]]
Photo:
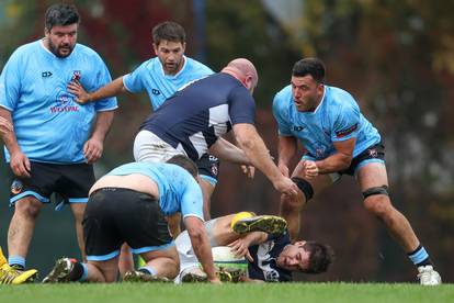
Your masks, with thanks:
[[[59,58],[68,57],[76,46],[79,24],[56,25],[45,31],[48,49]]]

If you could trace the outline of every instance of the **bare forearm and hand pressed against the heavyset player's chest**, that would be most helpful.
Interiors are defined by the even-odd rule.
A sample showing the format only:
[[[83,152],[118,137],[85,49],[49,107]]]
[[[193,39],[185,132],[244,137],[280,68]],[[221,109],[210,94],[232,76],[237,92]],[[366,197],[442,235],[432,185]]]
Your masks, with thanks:
[[[68,91],[76,96],[76,102],[86,104],[100,99],[117,96],[118,93],[126,91],[126,88],[123,85],[122,76],[93,92],[87,92],[79,81],[70,81]]]

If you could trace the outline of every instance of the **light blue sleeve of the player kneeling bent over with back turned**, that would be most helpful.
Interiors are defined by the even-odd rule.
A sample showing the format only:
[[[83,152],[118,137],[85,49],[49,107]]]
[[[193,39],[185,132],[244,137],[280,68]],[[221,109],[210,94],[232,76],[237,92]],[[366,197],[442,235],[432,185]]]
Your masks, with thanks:
[[[192,178],[192,177],[191,177]],[[203,195],[201,187],[195,180],[189,180],[181,199],[181,214],[196,216],[203,221]]]

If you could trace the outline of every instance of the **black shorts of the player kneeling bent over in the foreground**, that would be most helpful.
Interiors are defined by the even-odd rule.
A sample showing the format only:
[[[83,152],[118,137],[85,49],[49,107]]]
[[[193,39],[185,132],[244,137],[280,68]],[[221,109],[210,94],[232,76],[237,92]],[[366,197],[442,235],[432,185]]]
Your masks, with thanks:
[[[83,215],[87,259],[103,261],[120,254],[123,243],[133,252],[167,249],[173,245],[159,202],[129,189],[94,191]]]

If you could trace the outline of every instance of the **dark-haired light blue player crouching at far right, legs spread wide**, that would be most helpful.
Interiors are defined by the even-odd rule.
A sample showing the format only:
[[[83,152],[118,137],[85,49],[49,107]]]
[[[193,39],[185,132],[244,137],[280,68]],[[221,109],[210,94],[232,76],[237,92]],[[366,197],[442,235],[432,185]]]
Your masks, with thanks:
[[[291,237],[299,233],[304,205],[342,175],[355,176],[365,209],[378,217],[418,269],[423,285],[441,283],[408,220],[389,199],[385,148],[377,130],[361,114],[353,97],[324,83],[325,65],[317,58],[297,61],[291,85],[276,93],[273,114],[279,125],[279,168],[290,176],[297,139],[306,153],[292,173],[300,189],[282,197],[281,213]]]

